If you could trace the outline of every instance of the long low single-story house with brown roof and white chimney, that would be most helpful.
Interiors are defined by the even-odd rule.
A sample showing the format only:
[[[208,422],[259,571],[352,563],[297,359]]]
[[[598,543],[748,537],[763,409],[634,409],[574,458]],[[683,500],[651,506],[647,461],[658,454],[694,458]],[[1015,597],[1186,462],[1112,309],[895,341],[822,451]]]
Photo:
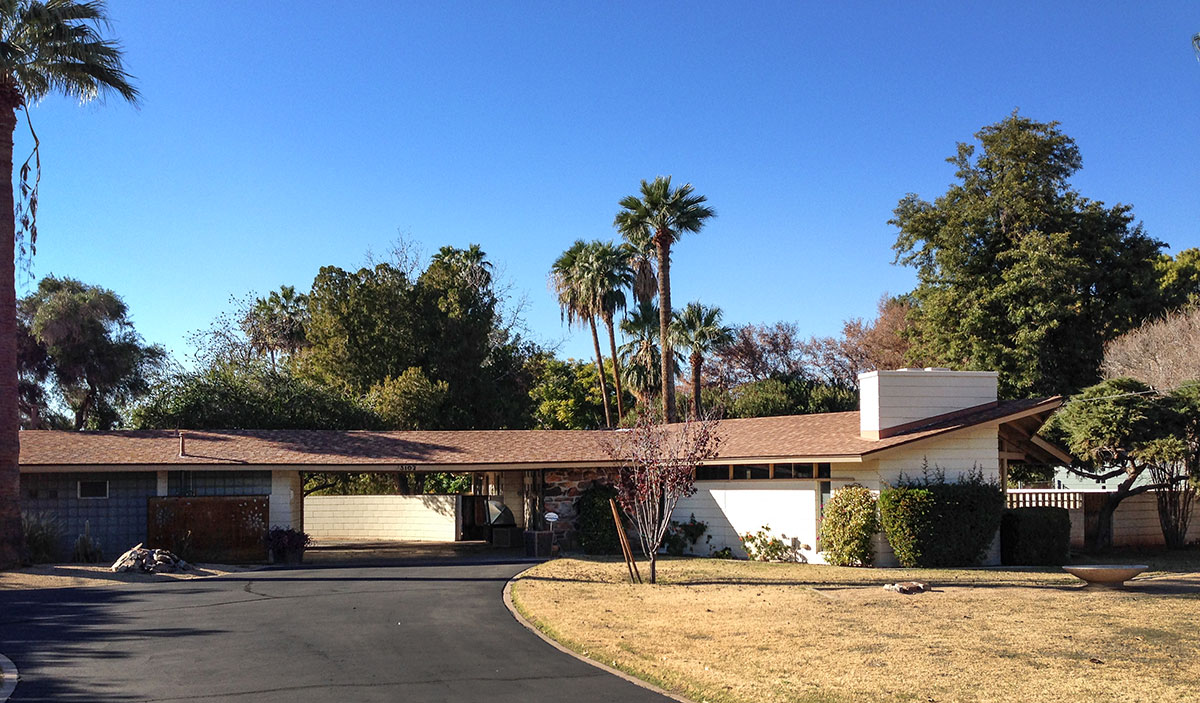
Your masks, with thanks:
[[[708,524],[703,552],[739,553],[738,534],[769,525],[820,560],[822,506],[846,483],[878,489],[925,468],[1001,481],[1009,462],[1069,461],[1036,435],[1061,398],[998,401],[994,372],[878,371],[859,380],[858,411],[721,422],[720,455],[700,467],[696,494],[676,511],[680,521],[695,515]],[[301,474],[472,473],[473,493],[498,498],[520,527],[544,528],[542,515],[557,512],[551,528],[569,545],[575,501],[616,467],[606,450],[610,432],[23,431],[22,506],[53,513],[65,527],[65,548],[86,523],[106,554],[144,541],[155,511],[172,500],[205,497],[236,498],[238,510],[253,504],[259,527],[317,536],[384,536],[354,528],[390,525],[396,537],[461,539],[470,521],[461,498],[395,497],[397,505],[382,497],[305,499]],[[318,504],[322,510],[310,510]],[[422,522],[426,512],[432,517]],[[439,531],[434,518],[446,528]],[[404,533],[408,523],[421,527]],[[880,551],[887,563],[887,545]]]

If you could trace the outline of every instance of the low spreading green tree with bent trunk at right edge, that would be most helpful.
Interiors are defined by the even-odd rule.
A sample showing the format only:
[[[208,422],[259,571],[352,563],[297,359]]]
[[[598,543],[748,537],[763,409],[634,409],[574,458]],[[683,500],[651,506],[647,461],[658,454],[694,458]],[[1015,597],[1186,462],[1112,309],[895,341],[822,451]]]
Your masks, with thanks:
[[[1190,467],[1194,474],[1196,452],[1188,450],[1200,437],[1200,402],[1194,387],[1163,397],[1132,378],[1105,380],[1073,396],[1043,428],[1078,457],[1068,470],[1088,479],[1120,480],[1100,504],[1091,547],[1104,551],[1112,546],[1112,515],[1122,500],[1188,480],[1188,471],[1169,471],[1164,480],[1136,486],[1144,474],[1154,476],[1156,469],[1175,462]]]

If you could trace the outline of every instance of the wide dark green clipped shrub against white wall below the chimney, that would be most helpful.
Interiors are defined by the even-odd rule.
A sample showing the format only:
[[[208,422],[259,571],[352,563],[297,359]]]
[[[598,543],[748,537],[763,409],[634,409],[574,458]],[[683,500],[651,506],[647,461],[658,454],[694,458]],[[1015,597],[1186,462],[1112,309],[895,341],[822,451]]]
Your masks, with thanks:
[[[1003,511],[1003,491],[979,471],[954,483],[941,471],[917,480],[901,476],[880,493],[883,533],[902,566],[978,564]]]

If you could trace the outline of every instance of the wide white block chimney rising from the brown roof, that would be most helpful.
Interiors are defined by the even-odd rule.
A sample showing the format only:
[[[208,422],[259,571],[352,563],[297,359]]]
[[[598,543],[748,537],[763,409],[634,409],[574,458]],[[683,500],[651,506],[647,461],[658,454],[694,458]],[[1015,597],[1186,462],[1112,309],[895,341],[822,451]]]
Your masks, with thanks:
[[[881,439],[923,420],[996,402],[995,371],[901,368],[858,374],[859,432]]]

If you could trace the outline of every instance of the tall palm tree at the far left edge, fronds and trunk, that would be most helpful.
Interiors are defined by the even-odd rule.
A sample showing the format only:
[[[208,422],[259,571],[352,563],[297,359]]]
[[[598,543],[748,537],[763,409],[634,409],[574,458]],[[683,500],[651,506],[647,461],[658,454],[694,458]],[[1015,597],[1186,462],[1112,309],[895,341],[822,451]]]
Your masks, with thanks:
[[[0,0],[0,168],[12,173],[17,110],[54,94],[80,103],[116,95],[136,103],[138,91],[121,65],[121,47],[106,40],[101,1]],[[20,226],[29,253],[37,245],[37,138],[20,168]],[[32,162],[32,167],[30,166]],[[32,173],[32,182],[30,174]],[[20,434],[17,379],[17,215],[12,185],[0,188],[0,567],[17,561],[20,542]],[[20,242],[24,254],[25,242]]]

